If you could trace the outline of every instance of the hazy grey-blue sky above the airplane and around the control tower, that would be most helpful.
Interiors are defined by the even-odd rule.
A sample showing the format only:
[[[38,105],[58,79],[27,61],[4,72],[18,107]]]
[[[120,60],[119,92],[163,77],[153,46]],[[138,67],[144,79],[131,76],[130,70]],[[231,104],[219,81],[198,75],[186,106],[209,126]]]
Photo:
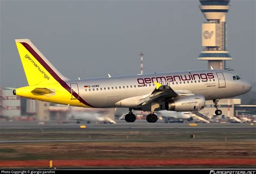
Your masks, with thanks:
[[[15,39],[28,38],[70,79],[206,69],[198,0],[0,0],[0,86],[28,85]],[[255,0],[231,0],[227,68],[256,80]]]

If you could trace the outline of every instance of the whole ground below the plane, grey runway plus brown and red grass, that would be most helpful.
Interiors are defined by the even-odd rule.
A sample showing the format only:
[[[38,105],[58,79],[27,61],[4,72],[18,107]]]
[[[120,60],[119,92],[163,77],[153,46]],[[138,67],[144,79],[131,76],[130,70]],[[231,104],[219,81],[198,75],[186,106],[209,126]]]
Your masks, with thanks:
[[[57,168],[252,167],[255,130],[250,123],[0,121],[0,168],[48,167],[49,160]]]

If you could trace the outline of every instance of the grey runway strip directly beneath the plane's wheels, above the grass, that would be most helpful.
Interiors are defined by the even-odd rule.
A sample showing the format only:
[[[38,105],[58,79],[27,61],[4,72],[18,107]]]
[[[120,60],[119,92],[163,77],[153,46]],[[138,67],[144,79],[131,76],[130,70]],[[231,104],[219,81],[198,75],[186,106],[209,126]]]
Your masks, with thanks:
[[[80,129],[85,125],[86,129],[252,129],[256,124],[250,123],[198,123],[198,126],[189,126],[189,123],[164,123],[159,120],[157,123],[148,123],[146,120],[136,120],[134,123],[127,123],[124,120],[116,120],[116,124],[96,123],[60,123],[56,121],[0,121],[1,129]]]

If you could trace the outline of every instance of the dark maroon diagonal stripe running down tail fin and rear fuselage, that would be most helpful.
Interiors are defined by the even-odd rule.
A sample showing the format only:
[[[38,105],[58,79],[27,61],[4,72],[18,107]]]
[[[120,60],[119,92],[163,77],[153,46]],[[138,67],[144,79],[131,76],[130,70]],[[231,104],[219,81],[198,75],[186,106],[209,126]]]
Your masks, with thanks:
[[[40,57],[40,55],[38,55],[37,52],[33,50],[33,48],[29,44],[27,43],[21,43],[21,44],[26,48],[26,50],[28,50],[33,55],[33,57],[37,59],[37,61],[39,61],[41,65],[43,65],[43,67],[53,76],[53,78],[55,78],[55,80],[57,80],[59,84],[71,94],[71,87],[65,81],[60,79],[60,77],[52,70],[52,68],[48,64],[46,64],[46,62]],[[72,93],[72,95],[75,96],[75,98],[77,98],[80,102],[84,103],[84,105],[93,107],[92,105],[84,101],[84,99],[82,99],[82,97],[80,97],[76,92]]]

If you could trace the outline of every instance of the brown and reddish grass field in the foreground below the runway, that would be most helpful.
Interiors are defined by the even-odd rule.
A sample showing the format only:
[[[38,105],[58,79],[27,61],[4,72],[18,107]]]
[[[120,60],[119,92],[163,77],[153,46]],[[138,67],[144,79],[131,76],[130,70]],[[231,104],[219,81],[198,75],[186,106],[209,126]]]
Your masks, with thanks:
[[[192,134],[196,137],[191,138]],[[0,140],[73,141],[1,143],[0,161],[103,160],[102,165],[104,166],[104,160],[154,159],[155,161],[165,160],[167,165],[169,164],[167,161],[179,159],[183,160],[184,165],[186,160],[189,162],[192,159],[197,159],[205,161],[200,165],[209,167],[215,166],[214,161],[220,159],[229,161],[237,159],[238,162],[223,164],[228,167],[255,167],[255,137],[254,129],[1,130]],[[76,140],[92,141],[76,142]],[[247,160],[248,164],[242,163],[242,159]],[[241,164],[239,164],[239,160],[241,160]],[[206,161],[212,161],[212,164],[206,163]],[[125,165],[125,163],[123,164]],[[89,167],[84,166],[86,163],[77,165]],[[152,165],[154,166],[154,164]],[[198,165],[193,164],[192,166]],[[118,167],[120,166],[122,165],[118,165]],[[7,166],[1,166],[0,162],[0,167]]]

